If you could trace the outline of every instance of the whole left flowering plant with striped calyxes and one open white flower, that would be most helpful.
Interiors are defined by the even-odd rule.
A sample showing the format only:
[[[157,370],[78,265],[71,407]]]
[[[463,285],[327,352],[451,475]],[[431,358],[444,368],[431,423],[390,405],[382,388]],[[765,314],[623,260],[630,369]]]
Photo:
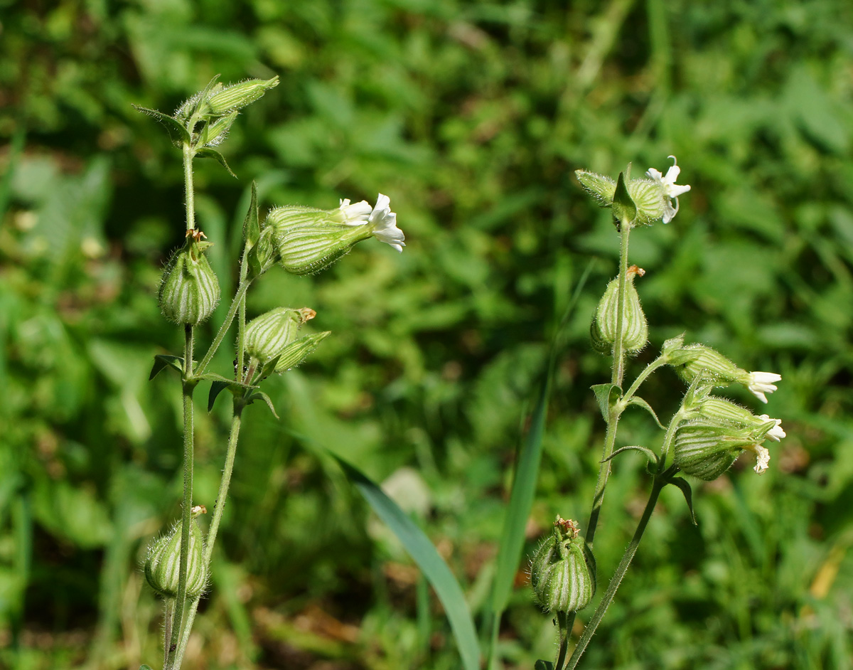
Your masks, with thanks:
[[[219,84],[217,79],[190,97],[175,114],[137,108],[160,120],[172,142],[181,149],[186,203],[186,242],[166,264],[158,294],[163,316],[183,329],[183,356],[157,356],[151,371],[154,378],[160,370],[174,368],[181,376],[183,388],[183,513],[180,521],[148,546],[144,566],[146,580],[163,597],[165,670],[181,667],[199,599],[209,582],[213,546],[240,440],[242,412],[247,405],[262,400],[275,414],[270,397],[260,390],[262,382],[273,373],[287,372],[302,363],[329,335],[328,332],[301,333],[305,323],[316,317],[310,307],[281,306],[247,323],[247,290],[273,265],[281,265],[285,271],[297,275],[313,274],[370,237],[386,242],[397,251],[405,246],[403,231],[397,228],[397,214],[392,213],[387,195],[380,194],[375,207],[367,201],[351,204],[349,200],[341,200],[339,207],[332,210],[276,207],[262,221],[252,184],[252,201],[243,223],[237,290],[211,346],[196,363],[194,329],[210,318],[220,291],[218,278],[206,258],[207,248],[215,241],[208,241],[195,222],[193,160],[212,158],[233,175],[216,148],[227,137],[240,110],[278,84],[277,77],[229,85]],[[235,319],[234,374],[210,372],[213,355]],[[225,389],[229,390],[233,405],[222,479],[207,533],[202,533],[198,521],[206,508],[194,505],[193,501],[194,391],[202,382],[211,384],[208,409]]]

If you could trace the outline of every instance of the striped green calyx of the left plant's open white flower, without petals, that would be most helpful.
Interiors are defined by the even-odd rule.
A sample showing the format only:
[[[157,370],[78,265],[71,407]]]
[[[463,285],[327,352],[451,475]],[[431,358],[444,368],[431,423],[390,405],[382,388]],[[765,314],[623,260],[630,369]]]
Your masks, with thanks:
[[[351,223],[344,214],[342,209],[295,206],[272,210],[266,224],[276,231],[281,266],[294,275],[314,274],[373,236],[370,226]]]

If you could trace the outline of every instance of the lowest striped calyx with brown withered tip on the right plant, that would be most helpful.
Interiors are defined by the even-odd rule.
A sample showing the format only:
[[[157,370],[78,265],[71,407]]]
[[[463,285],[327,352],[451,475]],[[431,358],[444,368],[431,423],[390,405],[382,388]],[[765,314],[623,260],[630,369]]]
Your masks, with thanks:
[[[554,532],[531,559],[531,586],[546,611],[577,612],[595,595],[595,559],[577,521],[557,516]]]

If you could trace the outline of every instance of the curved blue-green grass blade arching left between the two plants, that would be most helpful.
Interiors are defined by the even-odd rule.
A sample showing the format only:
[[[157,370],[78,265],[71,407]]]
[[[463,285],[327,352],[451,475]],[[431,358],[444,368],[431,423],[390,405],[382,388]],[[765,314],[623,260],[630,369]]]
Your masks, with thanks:
[[[343,459],[337,456],[335,459],[344,469],[347,479],[356,486],[364,499],[368,501],[376,516],[379,516],[397,535],[397,538],[403,543],[403,547],[409,552],[409,556],[415,560],[432,588],[435,589],[438,600],[444,605],[444,613],[450,620],[450,629],[456,638],[462,667],[465,670],[479,670],[479,642],[471,618],[471,610],[468,609],[465,594],[453,573],[450,572],[450,568],[447,567],[447,563],[438,554],[421,528],[417,527],[415,522],[409,519],[403,510],[382,492],[379,486]]]

